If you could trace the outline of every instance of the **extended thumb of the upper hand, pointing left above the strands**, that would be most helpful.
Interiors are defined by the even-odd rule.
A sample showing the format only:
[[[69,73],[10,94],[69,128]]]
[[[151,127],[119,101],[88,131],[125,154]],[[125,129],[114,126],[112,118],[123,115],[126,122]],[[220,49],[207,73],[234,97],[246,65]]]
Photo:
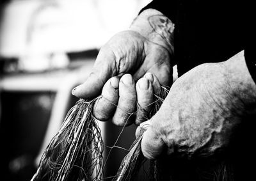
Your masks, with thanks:
[[[100,95],[102,87],[109,78],[115,75],[115,55],[112,51],[102,48],[93,66],[92,73],[81,85],[72,90],[79,98],[93,98]]]

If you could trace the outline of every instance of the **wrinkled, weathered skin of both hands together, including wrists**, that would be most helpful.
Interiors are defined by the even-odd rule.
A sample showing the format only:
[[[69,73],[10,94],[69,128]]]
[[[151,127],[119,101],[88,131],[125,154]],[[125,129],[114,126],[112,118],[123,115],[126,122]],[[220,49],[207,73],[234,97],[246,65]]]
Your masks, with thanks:
[[[137,102],[144,108],[152,102],[160,83],[171,84],[173,29],[162,13],[145,10],[128,31],[113,36],[100,49],[92,74],[72,93],[92,98],[102,91],[94,107],[99,120],[112,119],[116,125],[145,121],[147,110],[139,111],[135,121],[127,119]],[[223,63],[193,68],[177,79],[149,121],[143,154],[154,159],[167,150],[167,154],[193,158],[225,149],[243,116],[255,112],[255,93],[243,52]]]

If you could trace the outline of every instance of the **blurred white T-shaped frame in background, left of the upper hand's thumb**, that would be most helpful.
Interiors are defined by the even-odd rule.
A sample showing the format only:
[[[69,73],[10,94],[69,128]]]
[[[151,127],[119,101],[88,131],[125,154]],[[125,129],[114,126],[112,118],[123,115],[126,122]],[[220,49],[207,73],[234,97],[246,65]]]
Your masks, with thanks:
[[[62,70],[55,72],[44,72],[40,74],[4,75],[0,80],[0,91],[5,92],[56,92],[51,117],[45,133],[45,138],[38,156],[35,159],[38,165],[42,153],[51,141],[52,137],[60,129],[68,107],[68,102],[72,98],[71,90],[83,83],[92,70],[94,59],[86,59],[83,66],[74,70]],[[1,103],[1,102],[0,102]],[[0,105],[1,106],[1,105]],[[0,119],[1,120],[1,119]],[[103,122],[99,123],[102,135],[104,135]],[[13,165],[11,165],[12,167]],[[15,169],[15,168],[14,168]],[[19,168],[17,168],[19,169]]]

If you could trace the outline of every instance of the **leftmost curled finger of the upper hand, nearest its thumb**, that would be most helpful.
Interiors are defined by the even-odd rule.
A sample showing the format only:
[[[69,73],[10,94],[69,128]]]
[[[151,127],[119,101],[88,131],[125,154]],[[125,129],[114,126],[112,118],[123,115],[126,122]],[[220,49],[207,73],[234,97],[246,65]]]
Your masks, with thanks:
[[[94,116],[100,121],[108,120],[115,113],[118,102],[118,77],[112,77],[102,89],[102,97],[94,104]]]

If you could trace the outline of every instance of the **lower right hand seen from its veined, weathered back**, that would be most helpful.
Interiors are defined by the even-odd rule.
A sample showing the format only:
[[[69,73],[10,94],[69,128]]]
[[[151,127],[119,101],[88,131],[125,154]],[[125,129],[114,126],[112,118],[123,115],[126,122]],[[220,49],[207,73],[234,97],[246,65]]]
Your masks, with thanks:
[[[148,121],[142,152],[148,159],[163,152],[188,158],[214,155],[228,146],[243,117],[256,113],[255,103],[256,85],[243,52],[223,63],[199,65],[173,83]]]

